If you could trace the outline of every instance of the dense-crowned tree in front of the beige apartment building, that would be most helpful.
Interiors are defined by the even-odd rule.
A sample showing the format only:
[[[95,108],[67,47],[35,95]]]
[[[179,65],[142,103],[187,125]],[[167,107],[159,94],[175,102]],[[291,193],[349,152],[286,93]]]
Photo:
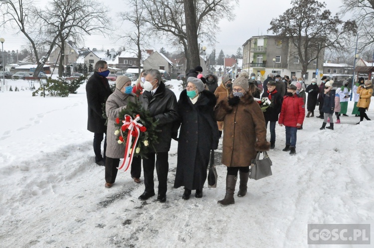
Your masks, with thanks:
[[[304,75],[321,51],[343,48],[345,38],[356,32],[357,25],[355,21],[343,22],[337,14],[332,15],[325,2],[292,0],[291,4],[293,7],[272,19],[268,31],[290,39],[297,50],[293,56],[299,58]]]

